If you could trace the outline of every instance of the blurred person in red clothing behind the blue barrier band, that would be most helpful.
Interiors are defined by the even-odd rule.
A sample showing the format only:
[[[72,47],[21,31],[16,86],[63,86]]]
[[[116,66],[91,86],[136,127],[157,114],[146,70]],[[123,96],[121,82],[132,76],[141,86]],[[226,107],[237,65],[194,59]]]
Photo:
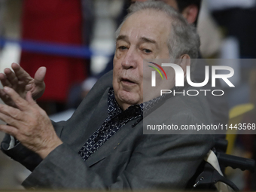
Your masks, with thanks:
[[[90,1],[84,1],[90,8]],[[82,38],[82,2],[81,0],[24,0],[22,16],[22,39],[53,44],[82,45],[88,43],[89,34],[84,32]],[[91,18],[89,12],[84,17]],[[84,22],[84,26],[90,23]],[[86,25],[87,24],[87,25]],[[66,99],[70,87],[87,77],[88,60],[69,56],[56,56],[47,53],[32,53],[23,50],[20,66],[30,75],[38,67],[46,66],[47,87],[44,95],[38,99],[47,114],[53,114],[66,108]],[[5,73],[11,73],[6,71]]]

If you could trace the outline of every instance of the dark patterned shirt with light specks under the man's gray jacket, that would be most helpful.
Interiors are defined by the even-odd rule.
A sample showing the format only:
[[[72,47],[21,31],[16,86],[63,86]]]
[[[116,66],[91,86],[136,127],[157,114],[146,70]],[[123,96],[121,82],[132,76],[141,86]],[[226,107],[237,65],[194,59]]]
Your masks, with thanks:
[[[139,121],[143,118],[143,112],[144,114],[149,113],[154,106],[156,106],[157,103],[159,103],[165,97],[166,94],[139,105],[131,105],[129,108],[126,108],[126,110],[123,111],[117,104],[114,97],[114,90],[111,88],[108,91],[108,117],[106,117],[105,121],[102,123],[102,126],[100,126],[99,129],[96,130],[92,136],[90,136],[78,154],[80,154],[83,160],[86,161],[127,122],[138,118],[136,123],[139,123]]]

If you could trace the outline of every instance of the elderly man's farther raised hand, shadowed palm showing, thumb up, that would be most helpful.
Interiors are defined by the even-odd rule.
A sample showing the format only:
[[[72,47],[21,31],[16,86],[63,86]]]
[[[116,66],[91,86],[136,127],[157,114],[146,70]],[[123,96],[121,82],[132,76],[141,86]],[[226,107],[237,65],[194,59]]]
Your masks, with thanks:
[[[12,63],[11,69],[5,69],[5,74],[0,73],[0,81],[4,87],[13,88],[23,99],[26,98],[26,93],[30,91],[33,99],[41,97],[45,90],[44,77],[46,68],[41,67],[35,72],[35,77],[32,78],[20,65]],[[5,104],[17,107],[10,96],[5,91],[0,90],[0,97]]]

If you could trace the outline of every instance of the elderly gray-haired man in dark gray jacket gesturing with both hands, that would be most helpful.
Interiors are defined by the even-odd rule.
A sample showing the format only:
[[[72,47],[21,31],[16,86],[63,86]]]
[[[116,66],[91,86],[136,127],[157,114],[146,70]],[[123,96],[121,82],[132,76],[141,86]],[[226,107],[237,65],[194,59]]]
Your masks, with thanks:
[[[185,72],[189,58],[197,57],[199,38],[184,18],[163,2],[136,3],[117,30],[116,45],[113,75],[102,77],[66,122],[51,123],[32,99],[44,90],[44,68],[35,79],[15,64],[15,74],[7,69],[7,78],[1,75],[17,90],[5,87],[1,93],[17,107],[0,105],[0,118],[8,123],[0,130],[17,139],[7,135],[2,150],[32,170],[23,186],[182,189],[212,148],[209,135],[144,135],[142,130],[142,111],[159,123],[211,123],[204,98],[143,97],[143,59],[179,58]],[[169,106],[167,118],[163,106]]]

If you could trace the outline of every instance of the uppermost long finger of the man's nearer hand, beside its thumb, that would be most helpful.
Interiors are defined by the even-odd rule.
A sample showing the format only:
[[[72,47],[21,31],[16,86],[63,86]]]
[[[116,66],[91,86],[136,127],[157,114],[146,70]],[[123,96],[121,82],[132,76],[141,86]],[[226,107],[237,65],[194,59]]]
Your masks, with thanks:
[[[4,91],[8,96],[11,97],[13,102],[17,105],[17,108],[20,108],[21,111],[24,111],[28,108],[28,102],[26,102],[26,100],[20,97],[15,90],[13,90],[10,87],[4,87]]]

